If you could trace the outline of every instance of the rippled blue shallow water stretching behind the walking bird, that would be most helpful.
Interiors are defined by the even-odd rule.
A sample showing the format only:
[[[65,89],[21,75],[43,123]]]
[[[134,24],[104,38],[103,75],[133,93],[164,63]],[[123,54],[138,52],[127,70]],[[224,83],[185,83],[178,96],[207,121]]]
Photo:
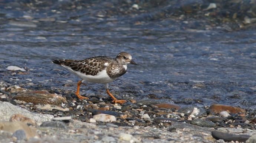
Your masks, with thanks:
[[[115,57],[126,51],[140,66],[128,65],[128,72],[110,84],[114,91],[135,95],[137,100],[155,94],[179,105],[216,102],[256,108],[255,28],[202,30],[200,25],[186,24],[195,21],[148,20],[150,14],[108,17],[104,13],[108,9],[101,9],[103,2],[78,10],[57,5],[36,10],[0,4],[1,80],[32,89],[75,91],[79,78],[51,59]],[[9,65],[25,67],[29,74],[13,75],[5,70]],[[101,89],[105,94],[101,84],[88,83],[82,89],[87,94]]]

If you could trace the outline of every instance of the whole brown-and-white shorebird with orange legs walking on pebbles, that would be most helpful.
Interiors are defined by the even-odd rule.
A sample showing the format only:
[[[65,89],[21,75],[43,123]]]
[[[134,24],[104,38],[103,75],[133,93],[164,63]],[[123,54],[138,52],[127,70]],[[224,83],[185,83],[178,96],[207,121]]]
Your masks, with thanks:
[[[125,100],[117,100],[110,92],[108,83],[111,83],[127,71],[127,64],[135,64],[132,56],[127,52],[119,53],[115,58],[108,56],[90,57],[84,60],[52,60],[53,63],[65,67],[76,76],[82,78],[77,83],[76,96],[83,100],[88,99],[79,94],[80,85],[83,81],[105,84],[106,93],[113,99],[114,103],[124,103]]]

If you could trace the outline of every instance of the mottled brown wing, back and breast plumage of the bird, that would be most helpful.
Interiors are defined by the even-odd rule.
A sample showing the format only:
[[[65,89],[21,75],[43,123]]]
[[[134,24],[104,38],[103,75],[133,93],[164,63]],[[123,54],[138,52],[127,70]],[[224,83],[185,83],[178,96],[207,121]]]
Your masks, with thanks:
[[[70,67],[74,71],[91,76],[95,76],[105,69],[111,79],[116,79],[126,73],[126,69],[121,63],[108,56],[96,56],[84,60],[53,60],[53,63]]]

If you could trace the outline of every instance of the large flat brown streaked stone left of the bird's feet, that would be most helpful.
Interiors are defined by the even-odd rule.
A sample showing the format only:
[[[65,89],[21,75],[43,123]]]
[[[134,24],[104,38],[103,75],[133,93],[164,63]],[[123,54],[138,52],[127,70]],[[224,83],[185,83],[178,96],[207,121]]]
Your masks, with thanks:
[[[67,102],[62,96],[46,91],[27,91],[17,94],[13,99],[33,104],[52,104],[59,106],[61,106],[62,102]]]

